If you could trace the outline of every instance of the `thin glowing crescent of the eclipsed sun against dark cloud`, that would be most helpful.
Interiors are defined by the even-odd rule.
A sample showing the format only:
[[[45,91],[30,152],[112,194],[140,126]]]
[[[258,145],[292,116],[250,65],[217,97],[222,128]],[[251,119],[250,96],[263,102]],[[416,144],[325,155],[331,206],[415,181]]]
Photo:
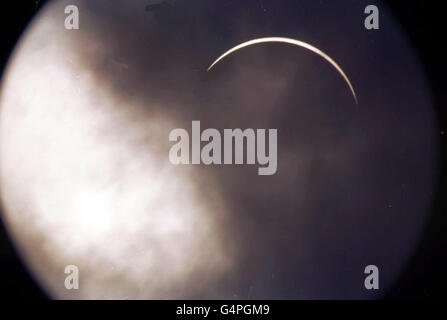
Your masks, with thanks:
[[[330,57],[328,56],[326,53],[324,53],[323,51],[321,51],[320,49],[306,43],[300,40],[295,40],[295,39],[291,39],[291,38],[283,38],[283,37],[267,37],[267,38],[259,38],[259,39],[254,39],[254,40],[250,40],[250,41],[246,41],[244,43],[241,43],[233,48],[231,48],[230,50],[228,50],[227,52],[225,52],[224,54],[222,54],[219,58],[217,58],[207,69],[207,71],[210,71],[219,61],[221,61],[222,59],[224,59],[226,56],[232,54],[233,52],[248,47],[248,46],[252,46],[255,44],[260,44],[260,43],[266,43],[266,42],[282,42],[282,43],[288,43],[288,44],[293,44],[305,49],[308,49],[316,54],[318,54],[320,57],[324,58],[327,62],[329,62],[337,71],[338,73],[340,73],[343,77],[343,79],[346,81],[346,83],[349,86],[349,89],[351,90],[351,93],[354,97],[355,103],[358,104],[358,100],[357,100],[357,94],[355,93],[354,87],[352,86],[351,81],[349,81],[348,76],[346,75],[346,73],[343,71],[343,69]]]

